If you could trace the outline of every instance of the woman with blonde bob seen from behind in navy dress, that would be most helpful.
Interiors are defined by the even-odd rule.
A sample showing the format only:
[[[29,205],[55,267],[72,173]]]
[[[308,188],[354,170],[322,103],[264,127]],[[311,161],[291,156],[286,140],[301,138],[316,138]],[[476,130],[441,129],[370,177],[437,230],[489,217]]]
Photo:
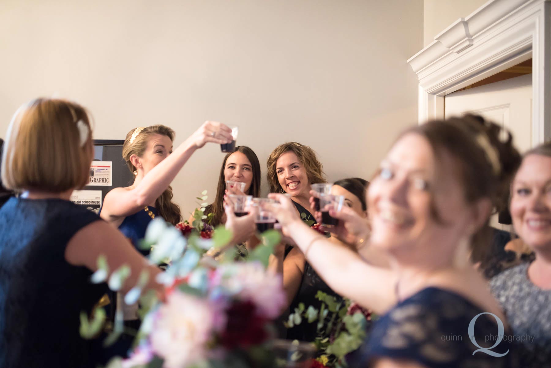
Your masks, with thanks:
[[[87,112],[63,100],[30,101],[8,127],[2,181],[22,194],[0,208],[2,367],[96,366],[79,315],[106,292],[105,284],[90,283],[100,255],[110,270],[130,267],[123,293],[147,270],[147,288],[163,296],[154,282],[159,269],[98,215],[69,201],[87,183],[91,139]]]

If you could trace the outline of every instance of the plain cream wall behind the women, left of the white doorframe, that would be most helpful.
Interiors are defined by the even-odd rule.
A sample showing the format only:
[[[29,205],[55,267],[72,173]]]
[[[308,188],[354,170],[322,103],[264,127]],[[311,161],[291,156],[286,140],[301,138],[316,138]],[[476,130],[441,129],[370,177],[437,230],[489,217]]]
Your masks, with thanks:
[[[337,180],[369,178],[417,120],[406,59],[423,46],[422,0],[3,0],[0,34],[0,137],[22,102],[57,93],[89,108],[98,139],[163,123],[179,144],[218,120],[240,126],[263,176],[296,140]],[[176,177],[183,212],[214,194],[222,158],[207,146]]]

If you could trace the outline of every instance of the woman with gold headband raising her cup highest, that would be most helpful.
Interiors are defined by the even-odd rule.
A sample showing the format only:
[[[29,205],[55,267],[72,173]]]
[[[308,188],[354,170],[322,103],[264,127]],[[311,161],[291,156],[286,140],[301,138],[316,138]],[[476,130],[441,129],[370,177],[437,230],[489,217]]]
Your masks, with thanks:
[[[193,152],[208,142],[224,144],[233,139],[230,128],[213,121],[205,122],[172,151],[174,136],[174,131],[164,125],[132,129],[126,135],[122,157],[134,174],[134,182],[107,193],[101,218],[120,229],[134,246],[155,217],[173,225],[182,220],[180,207],[171,201],[170,182]]]

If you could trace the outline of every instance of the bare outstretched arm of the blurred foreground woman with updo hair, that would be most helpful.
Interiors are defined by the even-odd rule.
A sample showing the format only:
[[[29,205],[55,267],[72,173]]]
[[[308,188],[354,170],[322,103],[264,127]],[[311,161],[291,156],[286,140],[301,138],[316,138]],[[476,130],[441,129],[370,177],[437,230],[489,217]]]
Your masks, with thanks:
[[[298,218],[290,199],[279,194],[280,205],[271,205],[284,235],[291,237],[307,261],[338,294],[349,297],[375,313],[384,313],[394,304],[396,277],[390,269],[365,262],[358,253],[329,241]]]

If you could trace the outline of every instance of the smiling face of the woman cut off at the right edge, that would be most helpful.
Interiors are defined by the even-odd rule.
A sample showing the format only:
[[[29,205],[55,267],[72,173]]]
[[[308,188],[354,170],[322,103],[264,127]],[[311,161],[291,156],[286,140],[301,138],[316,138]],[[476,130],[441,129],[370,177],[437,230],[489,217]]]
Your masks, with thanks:
[[[522,160],[511,187],[511,218],[530,248],[551,250],[551,157]]]

